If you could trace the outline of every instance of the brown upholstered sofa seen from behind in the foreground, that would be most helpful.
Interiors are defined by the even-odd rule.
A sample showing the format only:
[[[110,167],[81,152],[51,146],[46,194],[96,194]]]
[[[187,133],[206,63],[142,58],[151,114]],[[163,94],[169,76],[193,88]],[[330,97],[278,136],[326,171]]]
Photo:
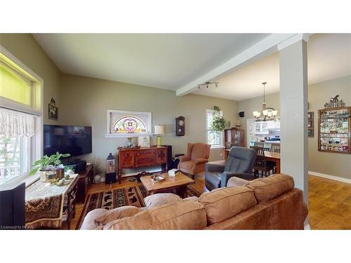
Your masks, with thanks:
[[[81,229],[303,229],[307,206],[293,178],[277,174],[199,198],[147,196],[145,208],[93,210]]]

